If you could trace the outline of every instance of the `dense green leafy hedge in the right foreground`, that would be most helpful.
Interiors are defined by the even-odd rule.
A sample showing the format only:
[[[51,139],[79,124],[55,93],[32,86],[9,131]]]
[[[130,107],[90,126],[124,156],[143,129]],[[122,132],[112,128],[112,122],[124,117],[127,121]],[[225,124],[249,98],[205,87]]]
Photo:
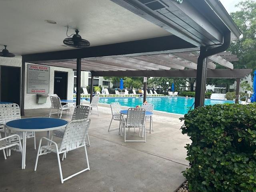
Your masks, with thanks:
[[[256,105],[224,104],[190,110],[190,168],[183,172],[190,192],[256,192]]]

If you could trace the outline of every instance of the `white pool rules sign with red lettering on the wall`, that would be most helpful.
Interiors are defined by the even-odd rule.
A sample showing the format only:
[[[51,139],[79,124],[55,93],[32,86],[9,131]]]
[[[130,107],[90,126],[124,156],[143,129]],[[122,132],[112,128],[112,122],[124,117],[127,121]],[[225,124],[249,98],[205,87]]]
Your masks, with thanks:
[[[49,93],[50,67],[29,65],[27,93]]]

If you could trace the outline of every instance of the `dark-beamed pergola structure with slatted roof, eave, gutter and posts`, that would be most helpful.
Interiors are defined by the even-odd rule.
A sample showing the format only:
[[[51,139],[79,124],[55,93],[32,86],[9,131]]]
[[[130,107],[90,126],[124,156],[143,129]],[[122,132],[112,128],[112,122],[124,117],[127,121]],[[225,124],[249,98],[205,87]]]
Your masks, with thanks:
[[[240,78],[252,70],[234,70],[235,55],[225,50],[240,30],[216,0],[112,0],[170,32],[169,36],[88,48],[22,55],[22,114],[25,63],[72,68],[93,76],[161,76],[196,78],[195,107],[204,105],[206,78]],[[216,64],[226,69],[216,69]],[[239,87],[239,86],[238,86]],[[92,86],[91,86],[92,89]],[[144,83],[146,90],[146,83]],[[239,89],[236,90],[239,92]],[[92,90],[91,90],[92,98]],[[144,94],[146,100],[146,94]],[[80,103],[77,89],[76,104]]]

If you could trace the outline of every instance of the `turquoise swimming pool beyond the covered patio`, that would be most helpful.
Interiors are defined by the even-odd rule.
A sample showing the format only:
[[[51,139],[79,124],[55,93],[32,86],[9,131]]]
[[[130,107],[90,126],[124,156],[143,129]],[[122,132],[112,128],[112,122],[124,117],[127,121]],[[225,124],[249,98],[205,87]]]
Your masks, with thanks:
[[[194,98],[186,97],[148,97],[147,101],[154,104],[154,110],[176,114],[186,114],[194,104]],[[136,107],[142,105],[143,97],[124,97],[124,98],[100,98],[100,103],[110,104],[119,102],[122,106]],[[205,99],[206,105],[234,103],[233,101]]]

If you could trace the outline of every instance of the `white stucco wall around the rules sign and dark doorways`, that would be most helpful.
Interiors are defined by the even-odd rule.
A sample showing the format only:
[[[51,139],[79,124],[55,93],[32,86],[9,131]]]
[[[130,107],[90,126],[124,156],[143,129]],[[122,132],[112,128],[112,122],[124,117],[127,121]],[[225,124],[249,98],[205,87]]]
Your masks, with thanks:
[[[50,108],[51,106],[50,98],[47,98],[46,104],[36,104],[36,94],[27,93],[27,65],[28,64],[30,63],[26,63],[26,68],[25,68],[24,109]],[[22,60],[21,58],[0,57],[0,65],[21,67]],[[68,99],[73,99],[74,71],[68,68],[50,66],[50,87],[49,87],[50,94],[53,94],[53,91],[54,91],[54,71],[68,72]]]

